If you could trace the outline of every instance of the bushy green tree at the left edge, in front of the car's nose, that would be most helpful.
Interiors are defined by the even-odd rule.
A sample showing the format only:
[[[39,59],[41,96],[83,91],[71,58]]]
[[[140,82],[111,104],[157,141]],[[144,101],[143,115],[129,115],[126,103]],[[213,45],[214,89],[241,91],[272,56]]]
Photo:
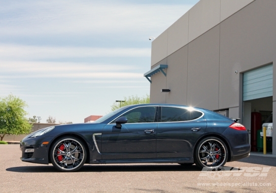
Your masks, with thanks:
[[[24,110],[27,103],[19,97],[9,95],[0,98],[0,141],[5,135],[28,134],[32,124],[25,117],[28,113]]]

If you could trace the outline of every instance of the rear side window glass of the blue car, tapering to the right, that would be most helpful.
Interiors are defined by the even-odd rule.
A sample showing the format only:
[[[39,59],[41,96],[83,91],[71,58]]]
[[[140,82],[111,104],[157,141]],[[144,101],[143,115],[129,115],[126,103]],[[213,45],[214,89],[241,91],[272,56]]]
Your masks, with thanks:
[[[185,108],[163,106],[161,109],[161,122],[191,121],[202,116],[199,111],[189,111]]]

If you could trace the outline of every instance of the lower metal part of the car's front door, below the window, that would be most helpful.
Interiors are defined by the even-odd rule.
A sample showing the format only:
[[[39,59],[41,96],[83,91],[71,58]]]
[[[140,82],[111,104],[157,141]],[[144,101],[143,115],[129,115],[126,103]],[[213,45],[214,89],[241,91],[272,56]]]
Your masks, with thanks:
[[[156,158],[157,123],[106,125],[102,134],[102,158]]]

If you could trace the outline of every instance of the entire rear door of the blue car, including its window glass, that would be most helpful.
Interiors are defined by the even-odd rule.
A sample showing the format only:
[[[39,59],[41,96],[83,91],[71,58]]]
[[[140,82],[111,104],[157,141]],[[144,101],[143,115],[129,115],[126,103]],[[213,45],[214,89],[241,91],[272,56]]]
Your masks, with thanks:
[[[156,157],[193,157],[195,143],[204,135],[207,123],[196,110],[162,106],[157,128]]]

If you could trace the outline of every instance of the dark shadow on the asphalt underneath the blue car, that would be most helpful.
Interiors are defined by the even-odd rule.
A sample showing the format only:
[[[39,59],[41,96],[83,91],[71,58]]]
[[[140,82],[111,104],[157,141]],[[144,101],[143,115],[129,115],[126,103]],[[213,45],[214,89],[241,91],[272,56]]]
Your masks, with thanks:
[[[19,166],[9,167],[6,171],[37,173],[37,172],[59,172],[53,165],[37,165],[37,166]],[[151,171],[201,171],[195,164],[190,166],[182,166],[178,164],[85,164],[77,172],[151,172]]]

